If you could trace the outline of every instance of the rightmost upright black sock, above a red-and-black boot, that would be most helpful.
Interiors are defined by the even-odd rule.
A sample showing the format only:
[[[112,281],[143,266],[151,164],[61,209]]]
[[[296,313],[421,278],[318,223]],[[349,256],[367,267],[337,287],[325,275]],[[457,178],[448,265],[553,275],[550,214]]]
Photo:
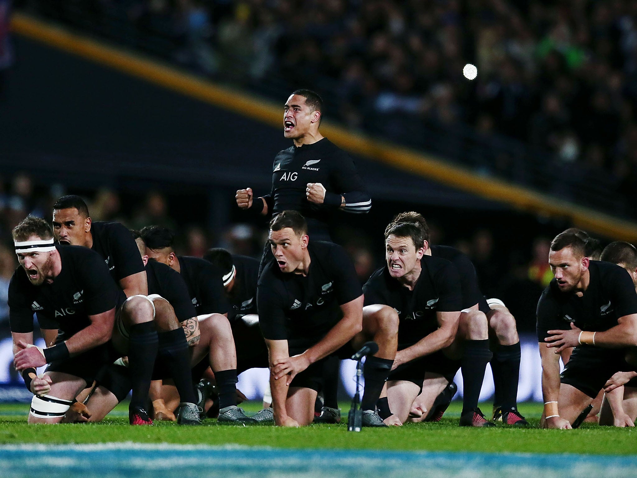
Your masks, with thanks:
[[[500,345],[491,360],[493,383],[496,386],[496,405],[502,410],[517,407],[517,386],[520,378],[520,342]]]

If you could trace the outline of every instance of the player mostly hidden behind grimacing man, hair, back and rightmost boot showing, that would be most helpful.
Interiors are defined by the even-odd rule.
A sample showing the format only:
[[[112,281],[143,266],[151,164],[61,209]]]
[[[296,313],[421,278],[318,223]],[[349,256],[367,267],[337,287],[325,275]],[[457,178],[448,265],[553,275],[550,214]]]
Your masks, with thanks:
[[[413,222],[420,226],[424,233],[424,249],[427,256],[441,257],[453,263],[460,273],[462,289],[462,317],[461,322],[469,318],[465,315],[479,316],[478,321],[483,321],[483,315],[489,325],[489,335],[492,339],[493,358],[491,370],[495,386],[493,420],[502,421],[510,425],[527,425],[526,419],[517,409],[517,390],[520,377],[520,338],[513,315],[505,307],[504,303],[497,299],[486,300],[480,292],[475,267],[471,259],[461,250],[445,245],[431,245],[429,242],[429,226],[425,218],[417,212],[403,212],[394,217],[392,223]],[[444,383],[444,382],[443,382]],[[433,380],[432,380],[433,384]],[[412,414],[422,419],[438,421],[442,417],[448,403],[453,398],[449,393],[449,387],[453,382],[445,384],[443,392],[447,400],[441,400],[439,407],[434,407],[431,401],[436,393],[436,387],[429,390],[424,385],[422,393],[417,397],[412,407]],[[435,398],[435,395],[433,395]],[[440,398],[443,398],[442,396]],[[440,399],[438,399],[440,400]],[[436,410],[434,410],[436,409]]]

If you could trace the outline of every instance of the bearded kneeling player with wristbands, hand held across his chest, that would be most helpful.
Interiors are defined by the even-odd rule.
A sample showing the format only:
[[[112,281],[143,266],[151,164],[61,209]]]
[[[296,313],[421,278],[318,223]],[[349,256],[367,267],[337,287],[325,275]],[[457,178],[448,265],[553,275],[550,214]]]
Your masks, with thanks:
[[[537,310],[546,428],[572,428],[616,372],[634,370],[625,359],[627,347],[637,345],[633,281],[616,264],[590,261],[586,246],[581,235],[564,232],[548,255],[555,277]],[[575,350],[560,375],[560,353],[568,347]]]

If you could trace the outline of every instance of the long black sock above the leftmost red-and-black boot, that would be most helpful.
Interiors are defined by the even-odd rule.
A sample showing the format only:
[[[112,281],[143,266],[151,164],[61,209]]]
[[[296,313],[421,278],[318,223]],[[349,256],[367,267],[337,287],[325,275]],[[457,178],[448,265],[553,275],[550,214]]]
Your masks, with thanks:
[[[129,408],[146,409],[148,389],[157,358],[155,322],[133,324],[128,345],[128,370],[131,373],[132,396]]]

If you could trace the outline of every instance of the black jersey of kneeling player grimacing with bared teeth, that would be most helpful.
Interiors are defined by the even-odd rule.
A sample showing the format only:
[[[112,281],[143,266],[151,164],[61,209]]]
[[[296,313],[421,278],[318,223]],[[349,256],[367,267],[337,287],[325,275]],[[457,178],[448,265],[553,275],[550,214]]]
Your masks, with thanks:
[[[365,305],[383,304],[398,312],[398,349],[406,349],[438,330],[436,312],[460,312],[462,289],[454,264],[440,257],[420,259],[420,277],[413,291],[389,275],[387,266],[363,286]]]

